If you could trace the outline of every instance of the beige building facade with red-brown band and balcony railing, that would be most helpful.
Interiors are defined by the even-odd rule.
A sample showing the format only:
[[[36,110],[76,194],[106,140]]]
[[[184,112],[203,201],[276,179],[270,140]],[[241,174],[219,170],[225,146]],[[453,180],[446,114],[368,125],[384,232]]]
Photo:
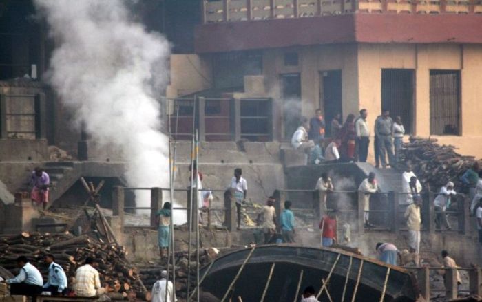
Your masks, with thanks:
[[[198,63],[187,68],[199,91],[241,105],[271,98],[275,140],[317,108],[328,122],[365,108],[372,126],[386,108],[407,133],[482,157],[480,12],[467,1],[204,1]],[[181,70],[171,69],[172,87]]]

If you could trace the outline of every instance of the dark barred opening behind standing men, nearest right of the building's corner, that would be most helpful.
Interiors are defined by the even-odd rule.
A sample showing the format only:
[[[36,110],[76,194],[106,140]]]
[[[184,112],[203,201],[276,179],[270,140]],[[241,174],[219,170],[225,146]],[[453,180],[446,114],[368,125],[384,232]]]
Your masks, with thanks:
[[[413,87],[412,69],[381,69],[381,109],[389,110],[394,120],[400,116],[405,133],[413,130]]]

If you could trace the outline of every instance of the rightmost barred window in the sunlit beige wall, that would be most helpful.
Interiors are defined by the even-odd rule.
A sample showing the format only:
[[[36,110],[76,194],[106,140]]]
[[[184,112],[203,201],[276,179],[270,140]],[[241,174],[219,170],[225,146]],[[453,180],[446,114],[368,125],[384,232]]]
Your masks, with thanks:
[[[430,70],[430,134],[460,133],[460,72]]]

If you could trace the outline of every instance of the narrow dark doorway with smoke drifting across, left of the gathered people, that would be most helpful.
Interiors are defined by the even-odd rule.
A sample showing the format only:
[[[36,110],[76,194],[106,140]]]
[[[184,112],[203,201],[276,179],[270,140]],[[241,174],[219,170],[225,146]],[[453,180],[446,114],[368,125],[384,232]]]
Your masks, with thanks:
[[[282,74],[284,138],[289,139],[300,124],[301,77],[300,74]]]

